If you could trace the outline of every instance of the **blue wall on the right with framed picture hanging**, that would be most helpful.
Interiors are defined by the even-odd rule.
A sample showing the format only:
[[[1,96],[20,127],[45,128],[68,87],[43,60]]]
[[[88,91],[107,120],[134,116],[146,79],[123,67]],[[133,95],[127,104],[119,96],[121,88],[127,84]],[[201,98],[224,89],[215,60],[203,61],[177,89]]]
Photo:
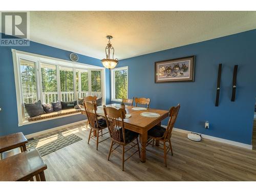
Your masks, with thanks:
[[[199,34],[200,35],[200,34]],[[175,38],[175,37],[174,37]],[[155,83],[155,61],[195,55],[195,82]],[[129,98],[151,98],[151,107],[181,104],[175,127],[251,144],[256,96],[256,30],[120,60],[129,66]],[[218,64],[222,65],[215,106]],[[233,66],[238,64],[236,102],[231,102]],[[210,127],[204,128],[208,120]],[[162,123],[167,124],[167,119]]]

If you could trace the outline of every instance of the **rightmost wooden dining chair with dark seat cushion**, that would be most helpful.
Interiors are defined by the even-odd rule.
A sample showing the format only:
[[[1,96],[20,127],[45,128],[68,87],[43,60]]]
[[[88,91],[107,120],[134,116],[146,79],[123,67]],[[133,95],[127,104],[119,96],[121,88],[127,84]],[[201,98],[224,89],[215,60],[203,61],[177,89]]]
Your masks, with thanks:
[[[169,110],[169,121],[167,124],[166,129],[162,126],[156,125],[154,126],[152,129],[147,131],[147,136],[148,136],[148,140],[147,140],[147,145],[152,144],[152,146],[154,146],[154,142],[158,141],[159,144],[163,145],[163,148],[159,146],[159,148],[161,148],[164,151],[164,163],[165,166],[167,167],[167,154],[169,151],[171,151],[172,156],[173,156],[173,148],[172,148],[172,143],[170,142],[170,137],[172,136],[172,131],[173,131],[173,127],[175,124],[175,121],[177,119],[178,113],[180,110],[180,104],[178,104],[177,106],[173,106],[172,108],[170,108]],[[161,143],[163,142],[163,143]],[[166,145],[166,142],[169,143],[169,146]],[[146,146],[147,146],[146,145]],[[155,153],[151,150],[148,150],[146,148],[147,151]],[[159,155],[159,154],[157,154]]]

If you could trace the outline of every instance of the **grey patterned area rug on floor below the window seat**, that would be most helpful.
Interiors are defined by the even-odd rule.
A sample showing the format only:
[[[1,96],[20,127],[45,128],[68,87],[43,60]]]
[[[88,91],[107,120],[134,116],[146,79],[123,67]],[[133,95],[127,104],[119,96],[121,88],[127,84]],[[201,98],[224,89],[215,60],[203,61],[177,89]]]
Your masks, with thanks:
[[[29,139],[26,146],[28,150],[36,148],[42,157],[80,140],[82,139],[73,134],[72,131],[65,130],[40,138]]]

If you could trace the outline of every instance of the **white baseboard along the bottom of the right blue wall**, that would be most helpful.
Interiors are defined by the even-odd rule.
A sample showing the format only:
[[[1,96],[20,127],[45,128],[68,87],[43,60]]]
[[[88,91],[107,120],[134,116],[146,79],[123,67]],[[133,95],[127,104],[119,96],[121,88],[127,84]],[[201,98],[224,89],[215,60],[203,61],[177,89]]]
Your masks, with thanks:
[[[166,125],[162,125],[162,126],[166,127]],[[177,132],[185,133],[185,134],[191,133],[190,131],[182,130],[182,129],[178,129],[178,128],[174,128],[173,131],[177,131]],[[195,133],[195,132],[193,132],[193,133]],[[222,138],[219,138],[219,137],[204,135],[204,134],[201,134],[201,133],[198,133],[198,134],[200,134],[201,137],[204,138],[204,139],[209,139],[209,140],[212,140],[212,141],[226,143],[226,144],[230,144],[230,145],[234,145],[234,146],[247,148],[248,150],[252,150],[252,145],[249,145],[249,144],[240,143],[240,142],[237,142],[237,141],[231,141],[231,140],[227,140],[227,139],[222,139]]]

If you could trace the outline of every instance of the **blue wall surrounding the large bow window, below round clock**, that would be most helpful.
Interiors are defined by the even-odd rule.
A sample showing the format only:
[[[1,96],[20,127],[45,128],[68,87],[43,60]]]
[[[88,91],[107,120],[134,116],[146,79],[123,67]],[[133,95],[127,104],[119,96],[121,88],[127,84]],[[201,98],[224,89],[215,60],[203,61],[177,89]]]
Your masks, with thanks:
[[[11,49],[50,57],[70,60],[71,52],[30,41],[29,47],[0,47],[0,136],[16,132],[25,135],[51,129],[53,127],[84,120],[84,115],[74,115],[29,125],[18,126],[15,81]],[[78,62],[102,67],[99,59],[79,55]],[[110,71],[106,70],[106,103],[110,102]]]

